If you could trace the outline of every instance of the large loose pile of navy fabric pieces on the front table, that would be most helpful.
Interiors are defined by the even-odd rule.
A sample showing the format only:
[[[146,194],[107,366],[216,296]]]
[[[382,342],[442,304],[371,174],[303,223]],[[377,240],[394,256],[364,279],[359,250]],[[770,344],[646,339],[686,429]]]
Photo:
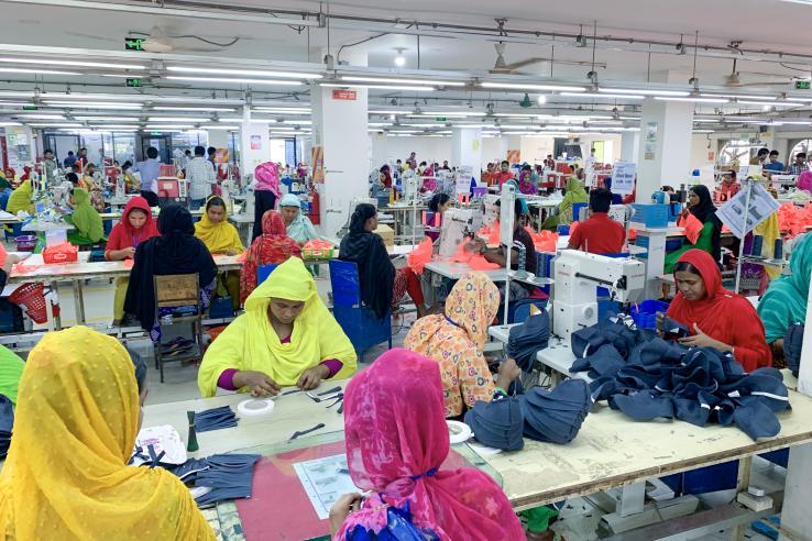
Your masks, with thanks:
[[[749,374],[728,353],[687,349],[606,320],[572,334],[572,372],[589,371],[595,401],[637,421],[681,419],[698,427],[735,424],[754,440],[777,435],[789,408],[781,373]]]

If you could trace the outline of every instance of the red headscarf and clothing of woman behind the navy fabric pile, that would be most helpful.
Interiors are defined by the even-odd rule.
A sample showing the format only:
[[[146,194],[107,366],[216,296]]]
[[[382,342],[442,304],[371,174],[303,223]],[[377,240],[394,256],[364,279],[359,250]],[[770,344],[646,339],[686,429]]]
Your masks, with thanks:
[[[714,340],[733,346],[734,357],[745,371],[772,364],[772,353],[767,345],[764,324],[750,301],[722,287],[718,265],[707,252],[689,250],[678,263],[690,263],[702,277],[707,291],[699,300],[687,300],[682,291],[671,301],[666,314],[696,334],[694,323]]]

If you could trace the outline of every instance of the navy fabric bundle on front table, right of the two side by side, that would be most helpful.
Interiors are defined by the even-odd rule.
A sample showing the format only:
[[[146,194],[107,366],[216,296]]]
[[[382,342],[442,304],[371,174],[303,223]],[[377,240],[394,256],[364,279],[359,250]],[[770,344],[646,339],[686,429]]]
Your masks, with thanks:
[[[551,443],[569,443],[581,430],[592,409],[592,397],[586,382],[568,379],[553,389],[536,387],[518,397],[525,419],[527,438]],[[476,439],[479,439],[479,432]]]

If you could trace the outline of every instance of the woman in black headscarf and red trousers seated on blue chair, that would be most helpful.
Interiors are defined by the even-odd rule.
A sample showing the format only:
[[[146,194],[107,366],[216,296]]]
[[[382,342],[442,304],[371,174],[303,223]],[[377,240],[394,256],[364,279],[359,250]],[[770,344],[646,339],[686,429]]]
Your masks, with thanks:
[[[341,239],[339,258],[358,265],[361,300],[378,319],[409,294],[417,307],[418,318],[426,314],[420,280],[409,267],[395,268],[389,261],[377,229],[377,210],[370,203],[360,203],[350,217],[350,231]]]

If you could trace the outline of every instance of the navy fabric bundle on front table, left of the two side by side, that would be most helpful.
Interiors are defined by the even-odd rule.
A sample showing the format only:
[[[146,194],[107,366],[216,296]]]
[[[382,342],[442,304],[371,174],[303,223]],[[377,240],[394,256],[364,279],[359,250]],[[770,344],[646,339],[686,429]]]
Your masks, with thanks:
[[[505,451],[519,451],[525,446],[522,437],[525,419],[519,398],[480,400],[465,413],[465,424],[471,427],[476,440],[487,446]]]

